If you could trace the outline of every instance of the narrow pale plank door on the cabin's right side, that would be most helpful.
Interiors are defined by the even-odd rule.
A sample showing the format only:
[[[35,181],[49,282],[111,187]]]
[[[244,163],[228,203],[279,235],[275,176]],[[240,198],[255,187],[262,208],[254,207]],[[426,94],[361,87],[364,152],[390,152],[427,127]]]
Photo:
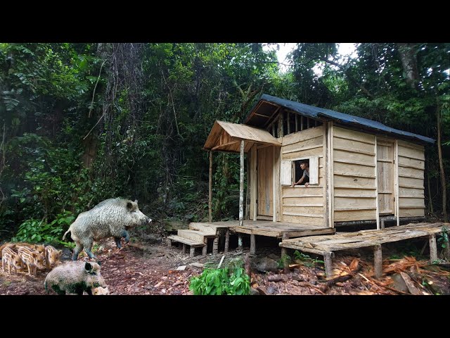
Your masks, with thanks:
[[[377,137],[378,210],[394,214],[394,142]]]

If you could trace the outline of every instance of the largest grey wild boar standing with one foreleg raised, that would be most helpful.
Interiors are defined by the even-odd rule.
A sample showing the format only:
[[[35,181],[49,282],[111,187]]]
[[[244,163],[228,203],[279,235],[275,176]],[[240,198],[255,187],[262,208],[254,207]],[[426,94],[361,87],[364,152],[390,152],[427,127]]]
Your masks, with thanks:
[[[106,199],[94,208],[80,213],[65,235],[70,232],[70,237],[75,241],[72,260],[77,261],[78,254],[84,249],[89,258],[96,258],[91,252],[94,240],[114,237],[117,247],[120,248],[120,239],[125,238],[129,242],[127,230],[138,225],[149,224],[152,220],[141,213],[138,201],[129,199]]]

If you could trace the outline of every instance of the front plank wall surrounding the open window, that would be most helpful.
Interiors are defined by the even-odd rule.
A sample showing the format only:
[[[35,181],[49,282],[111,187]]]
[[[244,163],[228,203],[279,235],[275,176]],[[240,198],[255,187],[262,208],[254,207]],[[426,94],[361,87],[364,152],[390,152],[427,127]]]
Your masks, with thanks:
[[[281,160],[319,157],[319,184],[309,187],[281,187],[281,221],[304,225],[325,225],[325,126],[309,128],[288,134],[278,140],[281,146]],[[279,180],[277,182],[279,184]]]

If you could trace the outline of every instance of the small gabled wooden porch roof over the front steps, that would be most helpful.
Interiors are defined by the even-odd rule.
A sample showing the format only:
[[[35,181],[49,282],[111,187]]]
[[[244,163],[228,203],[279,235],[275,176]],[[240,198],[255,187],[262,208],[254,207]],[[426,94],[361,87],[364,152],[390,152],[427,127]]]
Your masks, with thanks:
[[[253,144],[281,146],[269,132],[250,125],[239,125],[216,120],[206,139],[203,149],[210,151],[228,151],[238,153],[240,141],[248,141],[244,151],[247,152]]]

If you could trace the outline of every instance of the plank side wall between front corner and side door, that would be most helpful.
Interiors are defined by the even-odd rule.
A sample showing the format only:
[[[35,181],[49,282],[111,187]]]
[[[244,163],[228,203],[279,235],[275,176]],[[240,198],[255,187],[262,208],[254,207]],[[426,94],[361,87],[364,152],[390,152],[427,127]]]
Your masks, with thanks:
[[[377,219],[375,135],[333,127],[334,222]]]

